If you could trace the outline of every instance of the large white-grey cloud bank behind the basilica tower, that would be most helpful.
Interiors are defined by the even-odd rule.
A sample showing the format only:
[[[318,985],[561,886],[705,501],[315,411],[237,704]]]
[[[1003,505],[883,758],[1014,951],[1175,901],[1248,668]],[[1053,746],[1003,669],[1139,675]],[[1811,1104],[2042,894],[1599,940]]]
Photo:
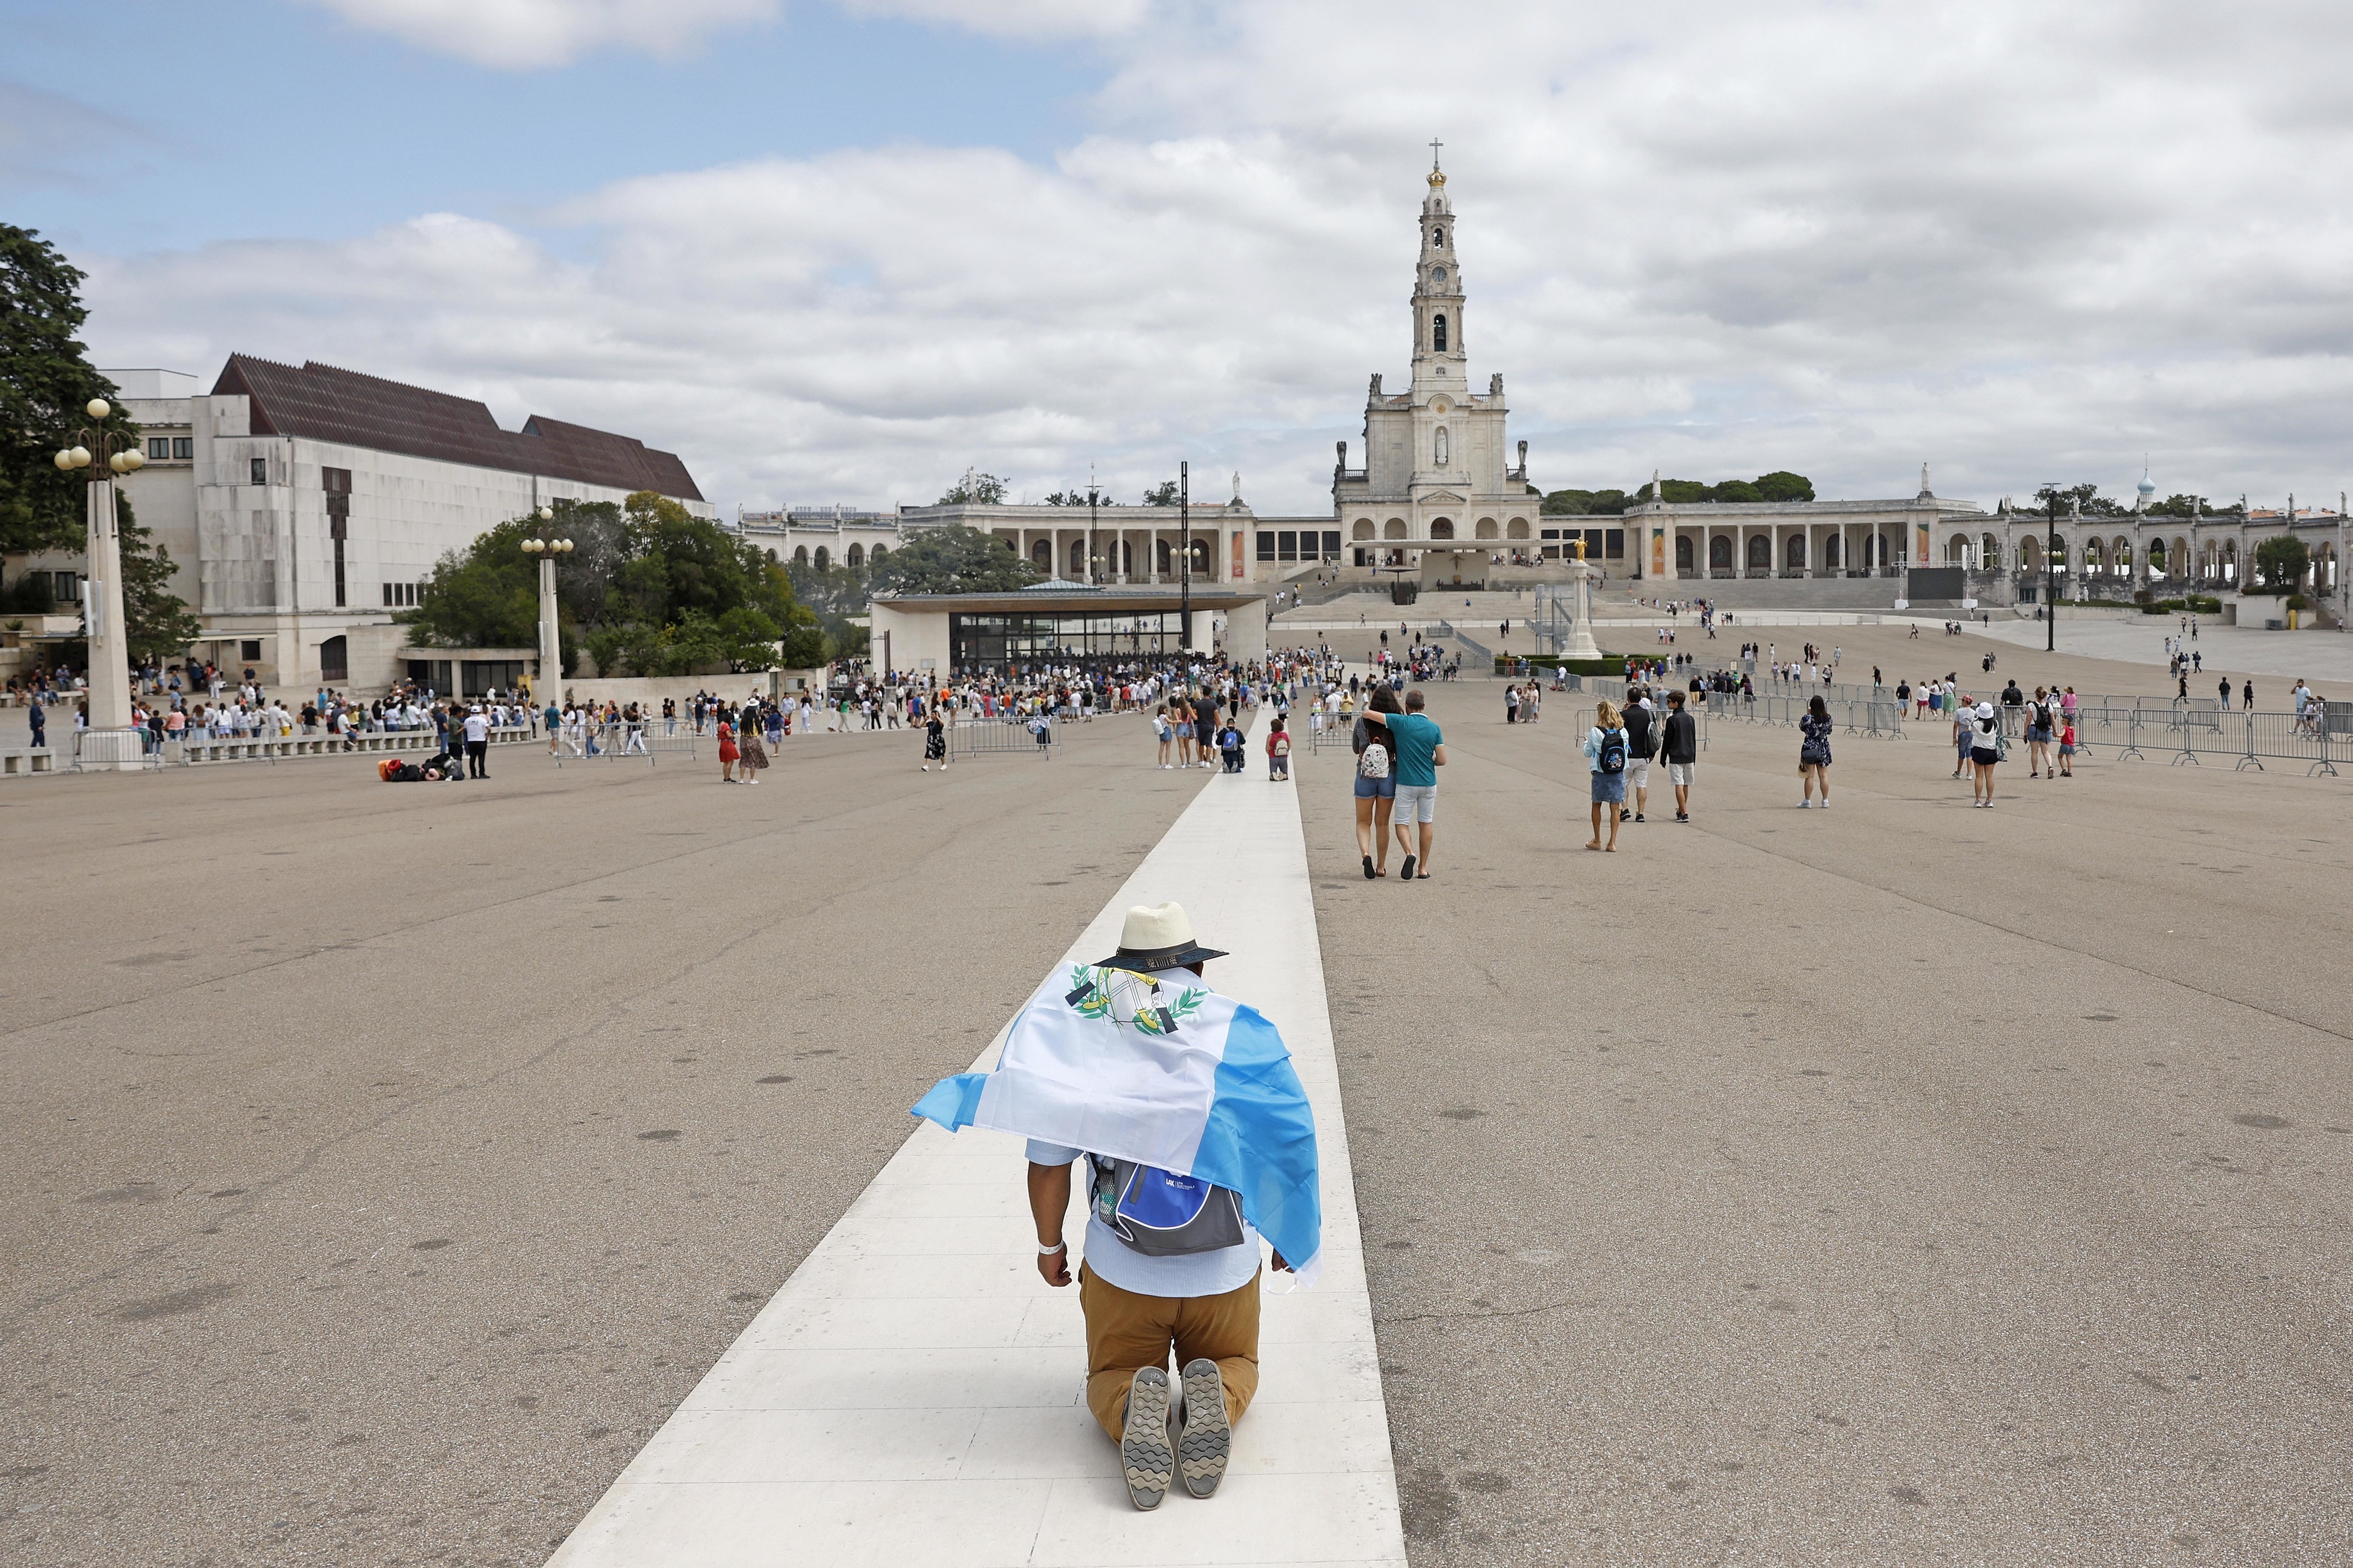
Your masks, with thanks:
[[[1318,509],[1367,372],[1405,374],[1438,134],[1473,374],[1506,374],[1546,485],[1788,466],[1908,494],[1929,459],[1991,501],[2125,490],[2144,450],[2162,490],[2344,485],[2332,9],[1122,26],[1099,129],[1052,167],[894,146],[621,181],[548,214],[588,261],[440,217],[106,264],[94,330],[607,424],[685,450],[722,501],[920,501],[967,464],[1040,494],[1089,459],[1129,494],[1193,457]]]

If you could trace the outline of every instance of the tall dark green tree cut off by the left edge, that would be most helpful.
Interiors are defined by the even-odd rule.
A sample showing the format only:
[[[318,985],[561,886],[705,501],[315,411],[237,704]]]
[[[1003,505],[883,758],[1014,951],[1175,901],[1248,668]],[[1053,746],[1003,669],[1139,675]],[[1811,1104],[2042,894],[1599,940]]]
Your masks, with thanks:
[[[0,553],[78,549],[87,539],[82,476],[56,450],[92,398],[118,407],[106,428],[136,438],[115,384],[92,370],[80,332],[82,271],[31,228],[0,224]]]

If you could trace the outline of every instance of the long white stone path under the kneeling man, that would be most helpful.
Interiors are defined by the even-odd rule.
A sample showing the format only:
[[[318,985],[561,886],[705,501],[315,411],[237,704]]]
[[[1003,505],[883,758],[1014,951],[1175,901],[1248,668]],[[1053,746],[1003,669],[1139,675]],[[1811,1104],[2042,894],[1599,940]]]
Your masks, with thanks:
[[[1297,784],[1249,758],[1202,786],[1068,951],[1101,958],[1129,904],[1179,899],[1205,944],[1233,949],[1209,979],[1282,1029],[1315,1102],[1325,1274],[1315,1290],[1266,1276],[1264,1377],[1217,1497],[1129,1507],[1080,1398],[1078,1290],[1031,1262],[1021,1142],[925,1123],[551,1568],[1402,1568]],[[1073,1208],[1073,1243],[1082,1220]]]

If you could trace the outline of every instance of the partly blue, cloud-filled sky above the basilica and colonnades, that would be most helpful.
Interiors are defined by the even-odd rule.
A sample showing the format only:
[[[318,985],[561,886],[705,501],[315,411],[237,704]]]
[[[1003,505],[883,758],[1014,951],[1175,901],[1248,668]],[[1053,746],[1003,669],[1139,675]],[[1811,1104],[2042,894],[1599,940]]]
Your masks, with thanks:
[[[2344,5],[104,14],[0,0],[0,217],[89,271],[99,363],[464,391],[722,509],[1191,459],[1322,511],[1405,379],[1433,137],[1544,487],[2353,483]]]

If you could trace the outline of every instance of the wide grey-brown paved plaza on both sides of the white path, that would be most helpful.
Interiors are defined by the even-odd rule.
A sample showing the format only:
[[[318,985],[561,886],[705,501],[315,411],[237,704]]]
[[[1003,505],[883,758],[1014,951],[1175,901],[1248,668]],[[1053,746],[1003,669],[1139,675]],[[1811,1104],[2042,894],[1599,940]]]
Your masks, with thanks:
[[[1417,1566],[2353,1559],[2353,777],[2099,749],[1972,812],[1918,725],[1800,812],[1718,723],[1694,822],[1661,777],[1591,855],[1584,699],[1426,690],[1431,881],[1297,770]],[[0,1556],[546,1561],[1221,786],[1136,718],[918,749],[0,784]]]

